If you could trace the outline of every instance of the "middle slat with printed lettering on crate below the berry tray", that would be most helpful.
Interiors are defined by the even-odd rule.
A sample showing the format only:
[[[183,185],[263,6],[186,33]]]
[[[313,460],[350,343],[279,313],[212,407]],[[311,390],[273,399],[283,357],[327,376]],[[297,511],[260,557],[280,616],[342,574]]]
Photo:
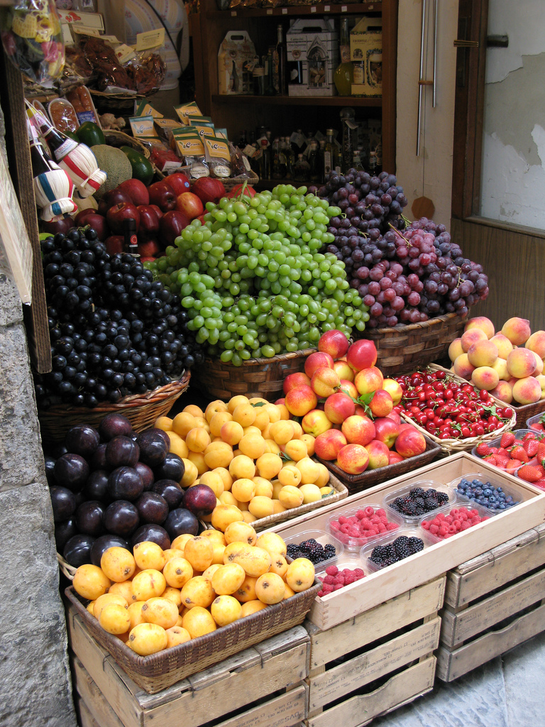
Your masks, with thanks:
[[[309,715],[315,714],[325,704],[432,652],[439,643],[440,624],[441,619],[436,617],[371,651],[308,678]]]

